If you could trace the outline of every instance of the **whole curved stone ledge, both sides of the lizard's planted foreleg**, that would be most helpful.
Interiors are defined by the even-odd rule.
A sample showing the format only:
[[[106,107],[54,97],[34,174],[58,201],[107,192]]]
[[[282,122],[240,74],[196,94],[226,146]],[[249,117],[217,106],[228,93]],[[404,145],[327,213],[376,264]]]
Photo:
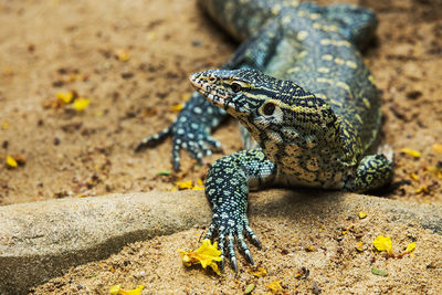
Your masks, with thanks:
[[[441,207],[312,190],[269,190],[253,193],[251,199],[255,218],[288,214],[295,220],[329,220],[366,211],[386,217],[386,226],[404,224],[442,234]],[[127,243],[207,225],[209,221],[210,209],[202,191],[112,194],[1,207],[0,293],[24,293],[71,266],[107,257]]]

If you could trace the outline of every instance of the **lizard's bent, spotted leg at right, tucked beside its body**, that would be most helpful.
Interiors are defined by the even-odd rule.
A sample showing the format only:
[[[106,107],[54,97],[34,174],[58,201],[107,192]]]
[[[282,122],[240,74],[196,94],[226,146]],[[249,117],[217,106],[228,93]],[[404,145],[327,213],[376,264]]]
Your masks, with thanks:
[[[365,156],[356,170],[356,176],[346,181],[345,189],[355,192],[375,190],[389,183],[393,176],[392,151]]]

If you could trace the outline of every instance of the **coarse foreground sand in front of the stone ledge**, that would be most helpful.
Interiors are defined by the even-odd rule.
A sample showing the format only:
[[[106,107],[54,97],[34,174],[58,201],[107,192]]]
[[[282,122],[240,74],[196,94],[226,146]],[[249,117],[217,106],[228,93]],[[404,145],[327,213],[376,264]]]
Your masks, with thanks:
[[[243,294],[255,284],[254,294],[271,294],[272,282],[280,282],[278,294],[439,294],[442,284],[440,235],[429,231],[396,226],[396,253],[418,239],[414,256],[388,259],[371,250],[371,242],[388,220],[370,214],[368,219],[306,219],[294,224],[284,213],[251,219],[260,232],[262,251],[252,249],[256,267],[240,256],[239,274],[232,270],[218,276],[198,267],[185,268],[177,249],[198,247],[201,229],[137,242],[107,260],[72,268],[62,277],[39,286],[36,294],[105,294],[110,285],[124,288],[145,286],[145,294]],[[302,228],[302,230],[299,230]],[[308,228],[314,228],[312,234]],[[351,228],[343,234],[340,229]],[[297,229],[294,231],[294,229]],[[308,234],[299,234],[299,232]],[[329,234],[329,233],[333,234]],[[359,236],[359,238],[357,238]],[[361,236],[361,238],[360,238]],[[356,250],[359,242],[362,251]],[[308,249],[312,249],[308,250]],[[439,257],[439,259],[436,259]],[[253,273],[263,267],[266,275]],[[387,271],[387,276],[371,273]],[[306,273],[309,273],[305,277]],[[296,278],[296,274],[302,274]]]

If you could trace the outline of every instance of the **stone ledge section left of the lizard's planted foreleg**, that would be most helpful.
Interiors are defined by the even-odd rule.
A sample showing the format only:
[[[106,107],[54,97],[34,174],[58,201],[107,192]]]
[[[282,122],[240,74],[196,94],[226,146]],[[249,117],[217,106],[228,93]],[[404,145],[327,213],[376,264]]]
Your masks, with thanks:
[[[207,224],[203,193],[152,192],[0,207],[0,294],[23,293],[125,244]]]

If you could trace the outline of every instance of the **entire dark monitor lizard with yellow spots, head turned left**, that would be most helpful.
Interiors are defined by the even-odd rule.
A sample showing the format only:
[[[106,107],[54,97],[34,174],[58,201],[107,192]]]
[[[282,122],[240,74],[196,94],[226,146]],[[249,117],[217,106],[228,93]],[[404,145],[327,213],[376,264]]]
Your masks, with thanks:
[[[225,113],[257,141],[254,149],[215,161],[206,183],[213,207],[206,238],[218,235],[222,255],[227,249],[236,270],[234,241],[251,263],[244,233],[259,244],[245,213],[249,189],[282,183],[364,192],[390,181],[392,155],[368,155],[378,137],[381,102],[358,51],[377,20],[370,10],[347,4],[199,2],[243,43],[222,70],[191,76],[200,95],[167,131],[173,134],[176,168],[180,147],[202,158],[206,144],[214,143],[210,130]],[[199,127],[186,129],[181,119]]]

